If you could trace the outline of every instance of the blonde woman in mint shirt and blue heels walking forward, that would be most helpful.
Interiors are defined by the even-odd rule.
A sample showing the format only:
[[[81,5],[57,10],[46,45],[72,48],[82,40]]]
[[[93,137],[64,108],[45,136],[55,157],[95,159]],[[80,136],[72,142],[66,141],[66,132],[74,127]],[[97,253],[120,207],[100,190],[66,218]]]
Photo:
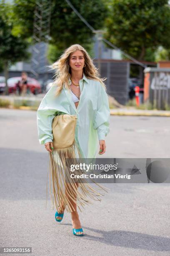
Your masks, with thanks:
[[[105,79],[99,78],[92,59],[79,44],[67,48],[60,59],[51,67],[56,70],[56,78],[37,110],[40,144],[45,145],[51,156],[53,152],[52,122],[54,117],[64,114],[75,115],[77,113],[75,141],[80,156],[86,159],[94,159],[97,154],[97,141],[100,145],[98,153],[100,155],[104,154],[106,151],[105,136],[110,131],[110,108],[103,82]],[[64,157],[67,156],[64,155]],[[55,175],[60,174],[56,172]],[[95,200],[98,195],[102,194],[97,193],[95,189],[87,184],[82,186],[82,184],[76,183],[77,187],[73,189],[65,183],[65,193],[59,184],[57,186],[60,195],[58,192],[59,199],[57,203],[59,206],[56,205],[56,221],[60,222],[62,220],[66,209],[67,212],[71,213],[73,234],[83,236],[77,206],[80,209],[80,204],[90,202],[87,200],[87,195]],[[82,189],[82,194],[78,192],[78,187]],[[72,195],[72,197],[69,195]],[[80,204],[76,200],[79,200]],[[97,200],[99,199],[97,198]]]

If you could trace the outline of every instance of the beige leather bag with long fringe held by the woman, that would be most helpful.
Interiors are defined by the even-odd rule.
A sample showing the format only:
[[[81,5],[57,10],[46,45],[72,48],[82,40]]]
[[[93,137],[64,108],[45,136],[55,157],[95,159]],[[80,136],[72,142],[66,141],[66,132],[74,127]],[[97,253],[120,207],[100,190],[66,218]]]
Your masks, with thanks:
[[[76,115],[57,115],[52,122],[53,151],[49,152],[50,198],[53,207],[55,203],[57,211],[60,211],[62,205],[67,212],[74,211],[75,209],[72,207],[72,202],[75,202],[79,209],[80,205],[84,208],[84,205],[92,203],[92,201],[87,199],[87,195],[93,200],[99,201],[101,201],[101,199],[99,199],[98,196],[103,195],[93,189],[85,179],[72,179],[70,177],[70,174],[72,174],[69,168],[70,164],[79,164],[79,159],[82,157],[75,141],[76,122],[77,113]],[[75,170],[74,174],[80,175],[82,174],[82,170]],[[108,192],[105,187],[96,182],[94,183],[97,184],[102,191],[104,189]],[[53,193],[51,193],[51,187]],[[81,192],[78,191],[79,188]]]

